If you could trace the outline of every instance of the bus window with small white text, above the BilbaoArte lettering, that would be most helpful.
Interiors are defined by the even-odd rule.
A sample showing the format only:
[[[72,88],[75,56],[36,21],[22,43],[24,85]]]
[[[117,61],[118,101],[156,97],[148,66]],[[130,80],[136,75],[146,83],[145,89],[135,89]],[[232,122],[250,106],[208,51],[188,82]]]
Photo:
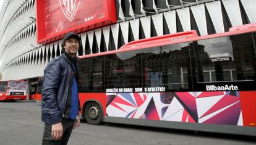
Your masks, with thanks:
[[[203,39],[191,44],[198,83],[255,83],[256,62],[252,33]],[[245,89],[245,86],[239,89],[242,88]]]

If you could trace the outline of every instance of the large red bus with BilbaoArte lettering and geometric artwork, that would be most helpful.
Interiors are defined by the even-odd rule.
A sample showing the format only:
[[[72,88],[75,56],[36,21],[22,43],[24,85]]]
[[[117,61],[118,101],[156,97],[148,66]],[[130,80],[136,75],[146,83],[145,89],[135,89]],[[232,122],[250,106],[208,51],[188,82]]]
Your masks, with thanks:
[[[80,56],[80,117],[256,135],[256,23],[132,41]]]

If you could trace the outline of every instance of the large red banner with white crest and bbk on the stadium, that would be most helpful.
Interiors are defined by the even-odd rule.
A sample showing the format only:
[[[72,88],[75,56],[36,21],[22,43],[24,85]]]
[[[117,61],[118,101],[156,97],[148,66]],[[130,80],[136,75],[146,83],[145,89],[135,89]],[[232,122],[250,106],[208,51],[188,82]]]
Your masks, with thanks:
[[[61,39],[68,31],[83,31],[116,23],[114,0],[37,0],[38,43]]]

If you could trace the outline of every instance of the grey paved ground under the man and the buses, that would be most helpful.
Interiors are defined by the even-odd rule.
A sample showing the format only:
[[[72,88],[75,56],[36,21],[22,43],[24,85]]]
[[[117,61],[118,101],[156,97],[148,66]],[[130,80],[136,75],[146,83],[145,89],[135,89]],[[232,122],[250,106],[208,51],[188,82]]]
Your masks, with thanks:
[[[41,144],[43,123],[40,106],[32,101],[0,102],[0,144]],[[69,144],[256,144],[250,136],[233,136],[194,131],[167,130],[141,126],[83,122],[75,129]]]

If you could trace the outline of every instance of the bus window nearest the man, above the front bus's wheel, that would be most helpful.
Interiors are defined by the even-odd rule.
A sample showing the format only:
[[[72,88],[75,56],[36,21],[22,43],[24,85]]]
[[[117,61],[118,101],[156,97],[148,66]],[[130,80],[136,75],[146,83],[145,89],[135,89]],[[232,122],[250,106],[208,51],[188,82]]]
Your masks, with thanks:
[[[79,65],[79,92],[100,92],[104,90],[104,56],[81,59]]]

